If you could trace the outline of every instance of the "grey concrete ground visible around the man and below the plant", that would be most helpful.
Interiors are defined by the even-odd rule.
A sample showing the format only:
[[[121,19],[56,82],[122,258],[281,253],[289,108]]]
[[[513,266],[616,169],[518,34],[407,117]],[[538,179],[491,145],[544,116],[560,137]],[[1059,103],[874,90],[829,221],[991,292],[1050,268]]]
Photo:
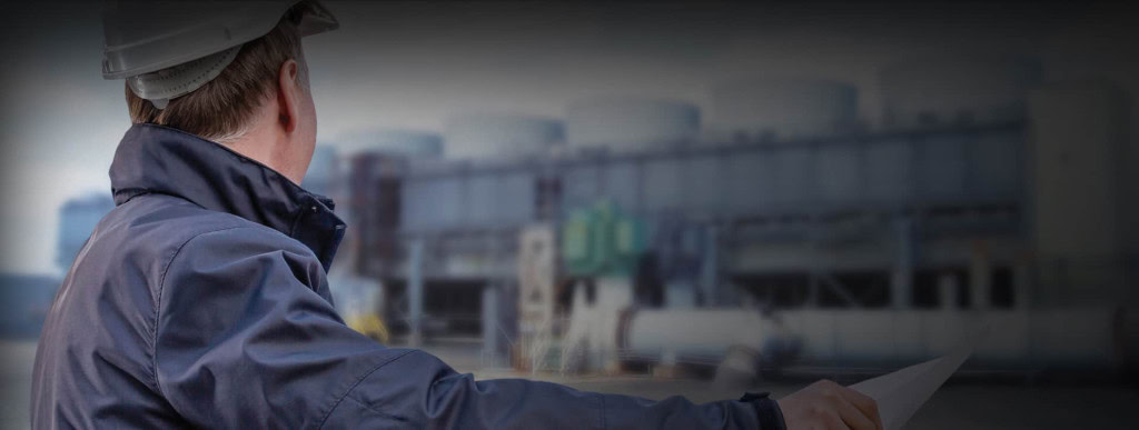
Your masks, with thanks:
[[[460,372],[478,379],[534,378],[573,388],[662,399],[673,395],[703,403],[739,397],[741,389],[718,387],[700,379],[649,377],[560,377],[480,370],[477,345],[428,345]],[[34,341],[0,341],[0,429],[28,427],[31,369]],[[810,381],[782,381],[748,388],[777,397]],[[1136,429],[1139,428],[1139,389],[1122,384],[1027,384],[1024,382],[950,381],[906,427],[907,429]]]

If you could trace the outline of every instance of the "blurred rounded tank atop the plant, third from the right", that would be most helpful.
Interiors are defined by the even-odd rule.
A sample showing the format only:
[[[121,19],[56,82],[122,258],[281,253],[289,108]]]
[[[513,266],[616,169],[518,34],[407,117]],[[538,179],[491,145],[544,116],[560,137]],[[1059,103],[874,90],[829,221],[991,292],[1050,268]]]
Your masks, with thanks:
[[[577,148],[636,151],[693,141],[700,110],[681,100],[601,98],[566,108],[566,142]]]

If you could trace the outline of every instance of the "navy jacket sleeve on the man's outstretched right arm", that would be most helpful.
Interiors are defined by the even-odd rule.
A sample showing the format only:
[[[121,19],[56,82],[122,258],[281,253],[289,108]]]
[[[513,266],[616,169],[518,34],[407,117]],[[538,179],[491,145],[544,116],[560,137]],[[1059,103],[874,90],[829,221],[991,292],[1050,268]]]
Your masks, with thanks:
[[[475,381],[344,325],[320,263],[284,237],[231,229],[191,239],[158,290],[159,391],[205,428],[759,429],[773,400],[693,404],[518,379]],[[768,402],[768,407],[761,405]]]

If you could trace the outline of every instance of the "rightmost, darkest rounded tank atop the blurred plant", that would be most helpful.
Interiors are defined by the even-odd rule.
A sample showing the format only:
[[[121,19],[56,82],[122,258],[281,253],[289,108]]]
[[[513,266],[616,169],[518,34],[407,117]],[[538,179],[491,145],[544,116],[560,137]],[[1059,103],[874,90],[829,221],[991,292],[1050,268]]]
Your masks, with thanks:
[[[956,56],[910,59],[880,73],[887,127],[1023,119],[1027,92],[1040,82],[1029,58]]]

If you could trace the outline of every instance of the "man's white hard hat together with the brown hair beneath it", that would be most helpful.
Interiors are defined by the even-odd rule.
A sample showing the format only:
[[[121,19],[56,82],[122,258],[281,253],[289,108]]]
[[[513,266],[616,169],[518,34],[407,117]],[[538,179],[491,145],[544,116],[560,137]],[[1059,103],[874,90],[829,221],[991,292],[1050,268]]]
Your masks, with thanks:
[[[228,142],[279,90],[282,64],[308,88],[301,38],[337,26],[316,0],[108,0],[104,77],[126,80],[132,123]]]

